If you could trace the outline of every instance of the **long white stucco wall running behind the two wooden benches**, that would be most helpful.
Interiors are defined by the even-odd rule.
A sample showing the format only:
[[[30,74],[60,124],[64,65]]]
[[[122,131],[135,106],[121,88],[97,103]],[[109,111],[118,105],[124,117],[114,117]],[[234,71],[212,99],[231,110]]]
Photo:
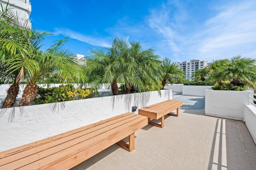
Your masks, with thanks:
[[[0,152],[168,99],[171,89],[0,109]]]

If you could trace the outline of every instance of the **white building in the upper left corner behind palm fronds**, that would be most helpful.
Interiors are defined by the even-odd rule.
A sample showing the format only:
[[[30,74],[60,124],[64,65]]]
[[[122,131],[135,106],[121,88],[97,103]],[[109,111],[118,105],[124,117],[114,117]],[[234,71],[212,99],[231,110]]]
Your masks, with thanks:
[[[6,7],[8,0],[0,0],[0,4],[3,7]],[[9,9],[12,10],[15,14],[18,14],[18,17],[21,21],[28,20],[28,27],[31,28],[31,22],[29,16],[31,13],[31,5],[29,0],[9,0]]]

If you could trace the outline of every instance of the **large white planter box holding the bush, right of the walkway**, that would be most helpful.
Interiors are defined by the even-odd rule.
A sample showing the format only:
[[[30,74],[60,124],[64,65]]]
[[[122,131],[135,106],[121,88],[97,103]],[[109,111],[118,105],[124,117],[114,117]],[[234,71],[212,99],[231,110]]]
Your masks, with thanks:
[[[205,90],[205,114],[243,120],[251,91]]]

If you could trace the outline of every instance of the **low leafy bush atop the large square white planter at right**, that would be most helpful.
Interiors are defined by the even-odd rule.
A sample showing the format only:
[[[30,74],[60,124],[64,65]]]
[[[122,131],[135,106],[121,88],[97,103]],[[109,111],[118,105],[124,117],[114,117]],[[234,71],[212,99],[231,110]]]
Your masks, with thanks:
[[[246,90],[245,85],[240,85],[240,86],[236,86],[232,83],[230,83],[230,81],[222,81],[222,82],[218,82],[216,83],[213,87],[213,90],[233,90],[233,91],[244,91]]]

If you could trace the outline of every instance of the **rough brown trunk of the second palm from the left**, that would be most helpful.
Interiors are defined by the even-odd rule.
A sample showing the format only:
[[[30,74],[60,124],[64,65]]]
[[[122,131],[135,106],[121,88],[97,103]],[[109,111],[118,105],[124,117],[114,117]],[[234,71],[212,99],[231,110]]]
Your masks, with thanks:
[[[27,84],[17,107],[30,105],[31,101],[34,100],[37,92],[38,88],[36,83]]]

